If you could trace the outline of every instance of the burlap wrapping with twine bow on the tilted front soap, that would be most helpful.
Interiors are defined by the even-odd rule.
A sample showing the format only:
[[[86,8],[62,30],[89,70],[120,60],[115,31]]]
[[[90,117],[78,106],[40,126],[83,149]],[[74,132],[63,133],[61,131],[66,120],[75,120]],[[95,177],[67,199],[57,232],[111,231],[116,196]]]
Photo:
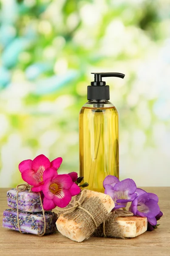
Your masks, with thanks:
[[[62,215],[65,222],[73,220],[79,224],[79,229],[88,239],[96,230],[96,228],[109,216],[109,213],[102,201],[97,196],[88,197],[88,190],[74,196],[71,203],[58,213],[58,217]]]

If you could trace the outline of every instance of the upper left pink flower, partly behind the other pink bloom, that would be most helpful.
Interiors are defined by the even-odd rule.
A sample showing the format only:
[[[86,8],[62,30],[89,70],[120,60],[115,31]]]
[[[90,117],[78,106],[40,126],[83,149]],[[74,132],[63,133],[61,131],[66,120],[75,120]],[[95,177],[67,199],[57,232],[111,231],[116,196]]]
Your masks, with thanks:
[[[54,159],[51,163],[50,160],[45,157],[45,155],[40,154],[35,157],[34,160],[24,160],[19,164],[19,170],[21,172],[22,178],[32,187],[32,191],[40,192],[42,191],[44,182],[42,180],[42,175],[44,171],[48,168],[53,168],[56,175],[59,166],[62,163],[62,158],[58,157]]]

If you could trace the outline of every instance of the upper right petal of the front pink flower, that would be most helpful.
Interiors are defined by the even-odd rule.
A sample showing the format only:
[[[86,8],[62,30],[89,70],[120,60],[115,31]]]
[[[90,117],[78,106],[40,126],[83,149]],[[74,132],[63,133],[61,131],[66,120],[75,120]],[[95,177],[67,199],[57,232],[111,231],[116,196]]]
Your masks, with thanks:
[[[70,189],[73,181],[68,174],[59,174],[52,179],[52,183],[57,183],[62,189]]]

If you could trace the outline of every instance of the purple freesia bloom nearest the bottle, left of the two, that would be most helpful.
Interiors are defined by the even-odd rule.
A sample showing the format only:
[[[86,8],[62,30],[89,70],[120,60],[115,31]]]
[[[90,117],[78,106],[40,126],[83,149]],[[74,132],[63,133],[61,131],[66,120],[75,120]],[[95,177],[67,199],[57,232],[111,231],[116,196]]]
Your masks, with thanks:
[[[114,209],[126,207],[127,202],[135,200],[136,184],[131,179],[119,181],[115,176],[108,175],[103,181],[105,194],[110,195],[115,203]]]

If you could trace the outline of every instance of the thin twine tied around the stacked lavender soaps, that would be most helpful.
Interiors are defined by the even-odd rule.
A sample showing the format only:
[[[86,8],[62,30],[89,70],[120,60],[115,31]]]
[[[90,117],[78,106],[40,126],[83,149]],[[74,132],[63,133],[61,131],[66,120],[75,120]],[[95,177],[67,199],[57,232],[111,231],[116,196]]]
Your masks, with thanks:
[[[19,229],[20,233],[22,233],[22,231],[20,230],[20,223],[19,223],[18,193],[26,191],[26,190],[28,190],[28,192],[31,192],[31,188],[32,188],[32,186],[29,185],[28,183],[23,183],[23,184],[20,184],[16,187],[16,190],[17,190],[17,223],[18,223],[18,229]],[[43,209],[43,206],[42,206],[42,199],[41,199],[41,193],[40,192],[39,192],[39,196],[40,196],[40,202],[41,202],[41,207],[42,207],[42,214],[43,214],[43,218],[44,218],[44,231],[43,231],[42,234],[40,234],[40,235],[38,234],[38,236],[44,236],[45,230],[46,230],[46,221],[45,221],[45,212],[44,212],[44,209]]]

